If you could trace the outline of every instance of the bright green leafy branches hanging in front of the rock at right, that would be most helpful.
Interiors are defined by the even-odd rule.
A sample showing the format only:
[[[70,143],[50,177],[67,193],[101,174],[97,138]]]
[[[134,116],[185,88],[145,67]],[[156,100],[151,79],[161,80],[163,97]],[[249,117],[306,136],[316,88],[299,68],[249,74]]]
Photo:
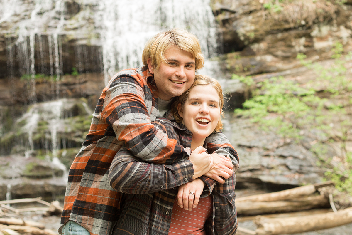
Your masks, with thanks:
[[[304,66],[316,71],[314,81],[300,84],[282,77],[266,79],[257,84],[259,88],[244,102],[244,109],[236,109],[235,113],[297,142],[303,138],[302,130],[308,132],[315,139],[309,150],[319,157],[317,164],[326,168],[327,179],[335,181],[339,190],[352,194],[352,153],[346,148],[352,129],[351,117],[347,115],[352,113],[352,79],[346,76],[345,67],[352,54],[343,56],[339,42],[334,44],[332,52],[333,62],[324,65],[298,54],[297,59]],[[233,75],[232,78],[247,85],[254,83],[250,77]],[[323,88],[316,89],[316,84]],[[325,94],[319,92],[321,89]],[[335,140],[339,141],[340,151],[327,159],[328,147]]]

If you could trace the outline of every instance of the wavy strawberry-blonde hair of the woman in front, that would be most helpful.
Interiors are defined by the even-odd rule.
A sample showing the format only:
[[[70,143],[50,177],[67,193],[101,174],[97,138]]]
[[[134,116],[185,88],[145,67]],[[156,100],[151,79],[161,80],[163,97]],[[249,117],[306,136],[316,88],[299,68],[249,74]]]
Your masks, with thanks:
[[[188,99],[188,95],[189,95],[190,91],[195,86],[206,86],[206,85],[211,85],[212,87],[214,87],[214,89],[216,90],[216,92],[219,95],[219,106],[220,106],[220,111],[221,111],[220,114],[221,115],[219,118],[219,122],[216,125],[213,133],[220,132],[224,126],[224,124],[222,123],[222,120],[221,120],[221,117],[224,117],[224,112],[222,111],[222,108],[224,106],[224,94],[222,94],[222,88],[221,88],[221,85],[218,82],[218,80],[216,80],[214,78],[210,78],[209,76],[197,74],[194,78],[194,82],[191,85],[191,87],[187,91],[185,91],[183,94],[181,94],[179,97],[176,97],[174,103],[172,103],[172,105],[171,105],[171,113],[174,116],[176,122],[182,122],[183,118],[178,114],[178,110],[177,110],[178,104],[181,104],[183,107],[183,105],[186,103],[186,101]]]

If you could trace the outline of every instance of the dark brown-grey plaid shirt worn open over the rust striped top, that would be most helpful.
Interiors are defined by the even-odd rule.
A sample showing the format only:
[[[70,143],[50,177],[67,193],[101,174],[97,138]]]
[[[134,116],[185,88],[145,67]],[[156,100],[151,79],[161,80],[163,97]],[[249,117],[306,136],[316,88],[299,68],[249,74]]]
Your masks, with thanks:
[[[172,123],[165,118],[157,119],[153,123],[157,128],[167,130],[169,138],[176,139],[185,147],[190,146],[192,135],[184,125]],[[176,186],[188,182],[185,178],[187,175],[175,171],[174,167],[176,164],[188,164],[188,160],[165,163],[171,165],[149,164],[140,162],[125,148],[122,148],[117,156],[119,157],[113,160],[109,170],[109,178],[113,188],[125,194],[122,194],[121,215],[113,229],[113,235],[167,235],[172,207],[178,192]],[[235,163],[238,166],[237,160]],[[236,177],[233,174],[224,184],[216,183],[212,192],[202,193],[202,198],[210,193],[213,196],[212,216],[206,222],[208,235],[236,233],[235,182]]]

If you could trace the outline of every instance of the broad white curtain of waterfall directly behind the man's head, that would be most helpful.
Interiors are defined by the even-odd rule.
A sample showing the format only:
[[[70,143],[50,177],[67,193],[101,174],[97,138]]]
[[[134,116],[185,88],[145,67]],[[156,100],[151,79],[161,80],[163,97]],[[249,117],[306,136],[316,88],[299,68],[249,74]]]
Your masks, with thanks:
[[[214,56],[216,30],[209,5],[207,0],[100,1],[96,24],[101,28],[105,83],[121,69],[141,66],[147,40],[172,27],[194,33],[205,57]]]

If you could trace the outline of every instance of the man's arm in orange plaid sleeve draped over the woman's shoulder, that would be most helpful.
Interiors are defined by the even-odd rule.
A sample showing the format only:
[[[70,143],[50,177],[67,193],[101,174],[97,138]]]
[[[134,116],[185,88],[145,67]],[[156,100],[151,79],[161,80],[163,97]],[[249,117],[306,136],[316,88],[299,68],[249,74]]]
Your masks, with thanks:
[[[94,113],[107,124],[101,135],[115,135],[134,156],[147,162],[165,163],[190,155],[189,148],[178,145],[151,124],[155,100],[144,78],[134,70],[115,76],[104,89]]]

